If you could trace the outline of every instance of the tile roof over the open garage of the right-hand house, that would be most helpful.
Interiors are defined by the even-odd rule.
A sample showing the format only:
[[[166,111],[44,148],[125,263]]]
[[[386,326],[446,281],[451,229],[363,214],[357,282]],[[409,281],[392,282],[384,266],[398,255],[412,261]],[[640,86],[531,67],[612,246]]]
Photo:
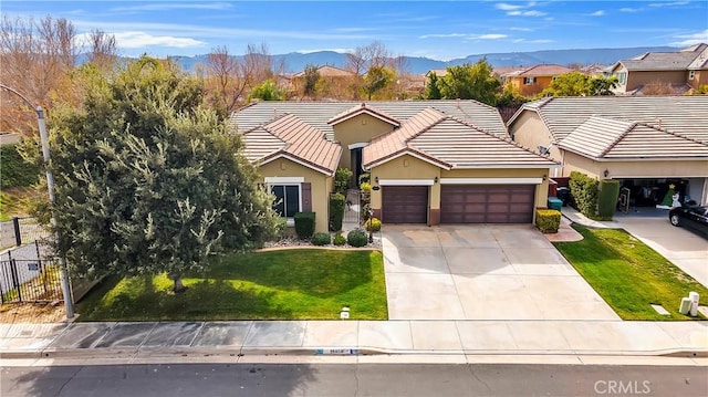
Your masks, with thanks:
[[[560,144],[593,159],[708,158],[708,144],[644,123],[592,116]]]

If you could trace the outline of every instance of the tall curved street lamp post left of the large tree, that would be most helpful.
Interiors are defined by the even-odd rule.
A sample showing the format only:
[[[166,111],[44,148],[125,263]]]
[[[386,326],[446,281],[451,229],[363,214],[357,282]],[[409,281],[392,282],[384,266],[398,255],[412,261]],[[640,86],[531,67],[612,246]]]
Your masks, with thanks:
[[[40,127],[40,142],[42,144],[42,158],[44,159],[44,174],[46,176],[46,189],[49,190],[49,201],[52,203],[52,227],[54,228],[54,238],[59,242],[59,230],[56,229],[56,217],[54,216],[54,176],[49,168],[49,135],[46,134],[46,123],[44,122],[44,111],[42,106],[34,106],[30,100],[24,97],[14,88],[11,88],[0,83],[0,88],[7,90],[24,101],[30,107],[33,107],[37,112],[37,121]],[[69,272],[66,271],[66,263],[63,258],[59,258],[59,274],[62,283],[62,294],[64,295],[64,309],[66,311],[66,318],[74,317],[74,302],[71,297],[71,286],[69,285]]]

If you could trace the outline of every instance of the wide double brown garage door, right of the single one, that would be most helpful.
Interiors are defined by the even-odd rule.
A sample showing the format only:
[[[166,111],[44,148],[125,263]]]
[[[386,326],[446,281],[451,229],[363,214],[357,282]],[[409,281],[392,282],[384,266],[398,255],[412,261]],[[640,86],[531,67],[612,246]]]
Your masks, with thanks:
[[[441,223],[530,223],[533,185],[442,185]]]

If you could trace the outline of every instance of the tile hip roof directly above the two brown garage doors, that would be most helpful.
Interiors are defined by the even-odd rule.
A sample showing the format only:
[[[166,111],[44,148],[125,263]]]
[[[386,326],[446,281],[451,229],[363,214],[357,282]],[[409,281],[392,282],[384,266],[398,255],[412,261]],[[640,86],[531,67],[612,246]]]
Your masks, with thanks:
[[[428,159],[445,169],[552,167],[556,163],[514,143],[433,108],[421,111],[400,128],[372,139],[364,167],[400,154]]]

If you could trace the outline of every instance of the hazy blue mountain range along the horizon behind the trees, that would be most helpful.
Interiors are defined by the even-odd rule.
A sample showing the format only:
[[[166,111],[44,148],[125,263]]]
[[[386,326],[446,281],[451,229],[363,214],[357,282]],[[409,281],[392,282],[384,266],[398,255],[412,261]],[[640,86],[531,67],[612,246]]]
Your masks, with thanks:
[[[624,49],[587,49],[587,50],[545,50],[532,52],[509,52],[509,53],[487,53],[475,54],[450,61],[438,61],[429,58],[404,56],[409,73],[426,73],[431,69],[445,69],[447,66],[461,65],[464,63],[475,63],[482,58],[494,67],[504,66],[532,66],[537,64],[583,64],[589,65],[600,63],[604,65],[613,64],[620,60],[626,60],[646,52],[675,52],[678,49],[671,46],[636,46]],[[243,55],[236,55],[242,60]],[[194,71],[199,63],[207,62],[207,55],[174,56],[183,69]],[[344,67],[346,54],[334,51],[317,51],[310,53],[291,52],[288,54],[273,55],[273,64],[284,65],[287,73],[296,73],[305,69],[306,65],[332,65]]]

